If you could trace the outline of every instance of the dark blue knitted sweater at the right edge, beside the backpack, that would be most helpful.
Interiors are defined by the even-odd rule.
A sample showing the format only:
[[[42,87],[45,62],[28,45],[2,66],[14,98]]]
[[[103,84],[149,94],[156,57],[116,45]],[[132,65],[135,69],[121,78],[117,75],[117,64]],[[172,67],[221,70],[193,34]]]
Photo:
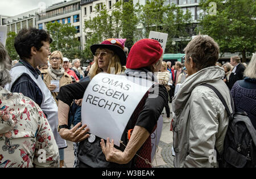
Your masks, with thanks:
[[[237,81],[231,90],[235,111],[248,114],[256,129],[256,79],[245,78]]]

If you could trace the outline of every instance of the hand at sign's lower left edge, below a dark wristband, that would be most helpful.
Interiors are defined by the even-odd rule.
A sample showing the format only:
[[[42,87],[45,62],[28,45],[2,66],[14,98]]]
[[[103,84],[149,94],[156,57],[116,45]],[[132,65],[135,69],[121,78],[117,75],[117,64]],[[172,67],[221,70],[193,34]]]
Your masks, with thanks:
[[[89,137],[88,133],[89,128],[85,127],[87,125],[83,125],[81,126],[81,122],[77,123],[77,125],[75,125],[72,129],[60,129],[59,134],[61,136],[61,138],[65,139],[65,140],[69,140],[72,142],[80,142],[82,140],[85,140],[86,138]],[[79,127],[81,126],[81,127]]]

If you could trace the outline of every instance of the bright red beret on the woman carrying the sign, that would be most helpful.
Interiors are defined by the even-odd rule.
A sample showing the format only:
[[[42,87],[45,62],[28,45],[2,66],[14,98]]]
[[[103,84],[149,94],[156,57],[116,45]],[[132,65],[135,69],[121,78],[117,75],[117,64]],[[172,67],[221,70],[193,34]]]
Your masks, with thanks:
[[[136,42],[127,57],[127,69],[140,69],[156,63],[163,54],[161,44],[153,39],[142,39]]]

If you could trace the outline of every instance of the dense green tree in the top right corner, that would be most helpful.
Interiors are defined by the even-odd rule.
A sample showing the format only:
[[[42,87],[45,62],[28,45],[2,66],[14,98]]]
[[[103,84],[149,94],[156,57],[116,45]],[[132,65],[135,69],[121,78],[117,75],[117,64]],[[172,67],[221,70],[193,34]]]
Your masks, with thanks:
[[[221,52],[246,54],[255,52],[256,3],[255,0],[215,0],[216,15],[212,15],[210,0],[200,2],[206,12],[200,22],[200,31],[213,37],[220,45]],[[210,13],[209,13],[210,12]]]

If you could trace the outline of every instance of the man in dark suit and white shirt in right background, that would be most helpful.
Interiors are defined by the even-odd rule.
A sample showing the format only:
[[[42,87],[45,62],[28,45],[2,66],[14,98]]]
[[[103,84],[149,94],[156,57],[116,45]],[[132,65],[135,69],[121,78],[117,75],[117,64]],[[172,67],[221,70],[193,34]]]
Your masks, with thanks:
[[[234,67],[232,73],[229,76],[228,87],[229,90],[232,89],[234,83],[238,80],[243,79],[243,71],[245,71],[245,66],[241,64],[240,57],[234,56],[230,58],[230,64]]]

